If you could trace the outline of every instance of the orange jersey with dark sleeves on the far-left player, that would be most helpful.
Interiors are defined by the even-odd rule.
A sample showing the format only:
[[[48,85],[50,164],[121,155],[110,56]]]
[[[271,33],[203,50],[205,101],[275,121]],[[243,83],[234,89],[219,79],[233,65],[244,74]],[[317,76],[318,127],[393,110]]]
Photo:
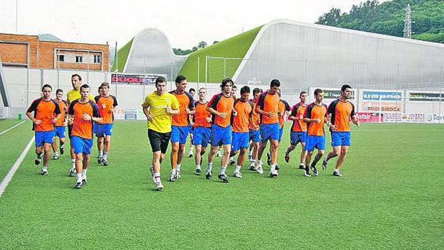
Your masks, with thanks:
[[[51,131],[54,130],[52,119],[60,114],[60,108],[57,102],[55,102],[53,99],[43,101],[42,98],[38,98],[32,102],[27,112],[34,112],[34,118],[41,121],[40,124],[34,123],[32,130]]]

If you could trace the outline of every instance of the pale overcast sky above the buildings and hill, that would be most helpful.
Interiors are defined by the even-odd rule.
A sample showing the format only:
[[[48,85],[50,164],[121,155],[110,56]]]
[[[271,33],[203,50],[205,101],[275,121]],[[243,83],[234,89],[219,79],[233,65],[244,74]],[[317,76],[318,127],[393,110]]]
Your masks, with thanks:
[[[0,33],[50,33],[71,42],[123,46],[143,28],[163,31],[173,47],[212,44],[274,19],[314,23],[331,8],[349,12],[360,0],[55,1],[0,0]],[[380,1],[383,2],[383,1]]]

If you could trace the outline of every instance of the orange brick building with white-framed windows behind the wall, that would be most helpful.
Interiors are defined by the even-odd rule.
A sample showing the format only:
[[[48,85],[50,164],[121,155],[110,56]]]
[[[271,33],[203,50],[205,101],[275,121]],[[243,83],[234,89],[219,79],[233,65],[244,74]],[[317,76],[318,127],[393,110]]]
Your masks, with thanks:
[[[36,35],[0,33],[0,58],[3,66],[109,71],[107,44],[42,41]]]

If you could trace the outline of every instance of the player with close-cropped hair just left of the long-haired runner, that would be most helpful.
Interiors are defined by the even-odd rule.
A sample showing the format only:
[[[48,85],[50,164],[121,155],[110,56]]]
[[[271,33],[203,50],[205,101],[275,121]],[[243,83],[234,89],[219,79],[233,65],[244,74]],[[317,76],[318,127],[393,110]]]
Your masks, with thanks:
[[[206,110],[208,101],[206,100],[206,88],[200,88],[199,101],[194,103],[195,113],[193,118],[193,145],[196,147],[196,175],[202,173],[202,156],[205,154],[206,147],[211,135],[211,113]]]

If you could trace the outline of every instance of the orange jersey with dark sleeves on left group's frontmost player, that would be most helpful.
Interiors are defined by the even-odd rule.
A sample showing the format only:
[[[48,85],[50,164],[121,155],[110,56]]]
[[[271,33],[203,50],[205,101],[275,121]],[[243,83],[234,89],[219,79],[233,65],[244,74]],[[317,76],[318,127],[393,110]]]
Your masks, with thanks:
[[[80,99],[71,102],[69,114],[74,116],[72,136],[79,136],[84,139],[92,139],[92,121],[84,121],[83,114],[88,114],[91,117],[100,117],[100,112],[97,105],[93,101],[87,103],[80,103]]]

